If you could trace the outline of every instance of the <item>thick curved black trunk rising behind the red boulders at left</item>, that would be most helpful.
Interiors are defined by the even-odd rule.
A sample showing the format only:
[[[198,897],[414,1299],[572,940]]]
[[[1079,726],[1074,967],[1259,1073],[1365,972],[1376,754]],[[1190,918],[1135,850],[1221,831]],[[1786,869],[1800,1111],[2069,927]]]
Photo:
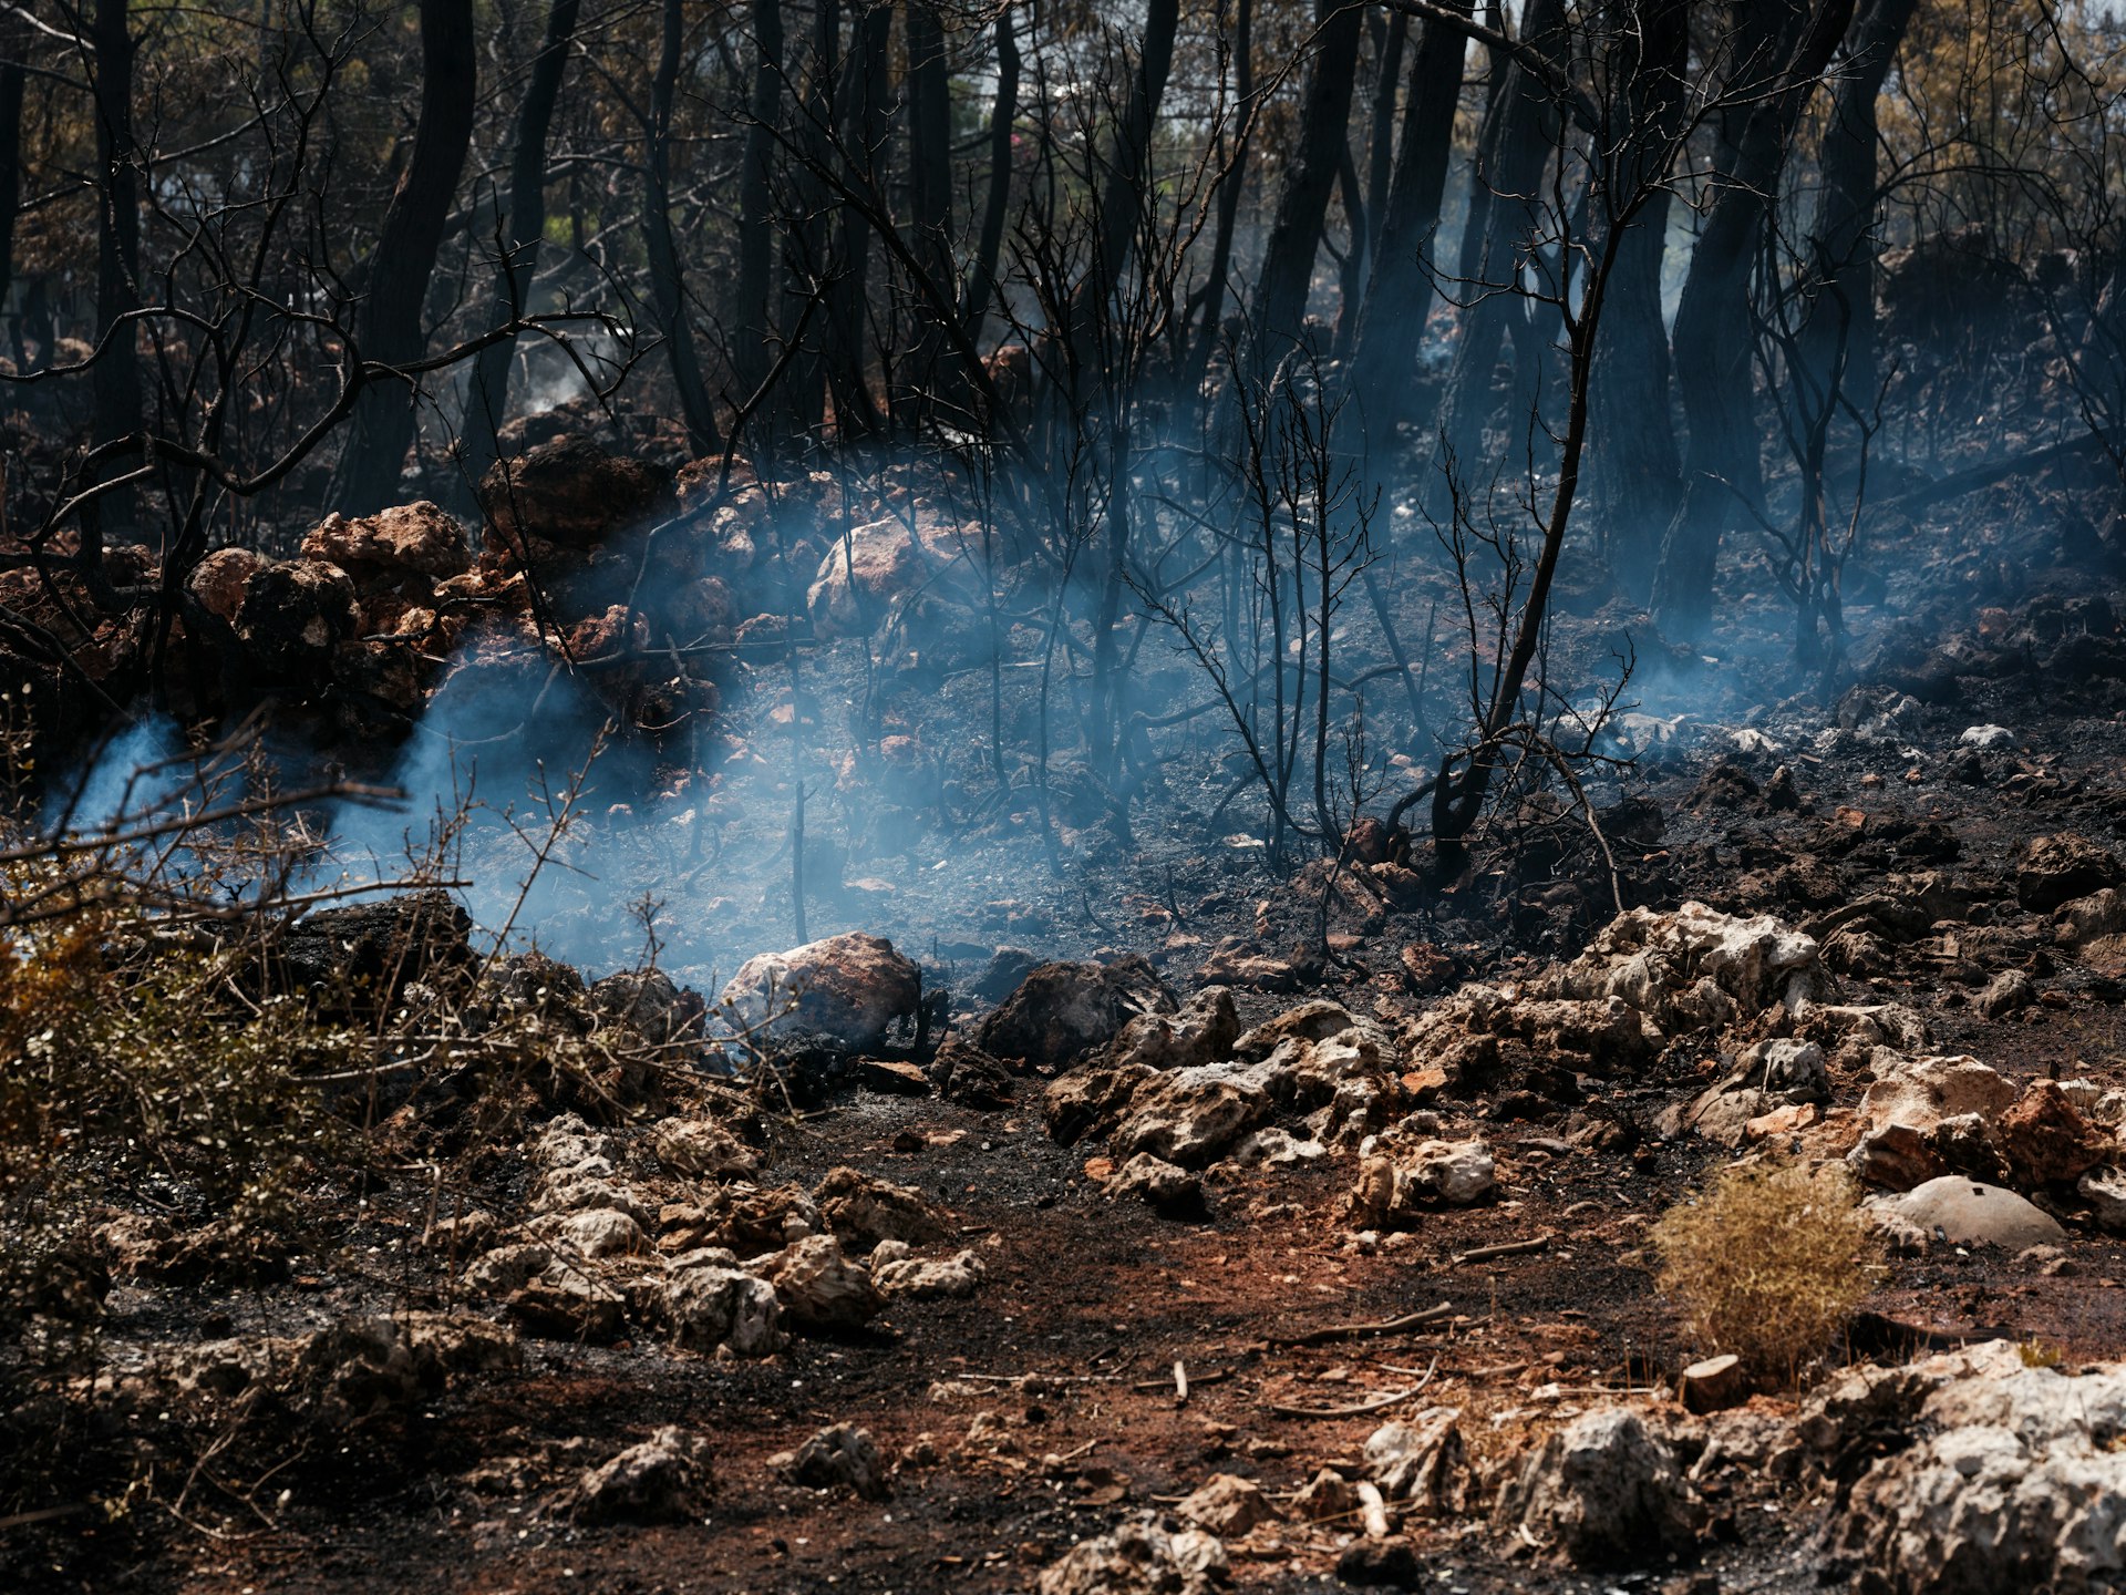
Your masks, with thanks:
[[[357,323],[366,362],[404,366],[425,353],[421,310],[472,145],[476,70],[472,0],[421,0],[421,113],[412,155],[376,232],[370,296]],[[410,379],[364,387],[334,493],[347,515],[372,515],[398,496],[417,396]]]

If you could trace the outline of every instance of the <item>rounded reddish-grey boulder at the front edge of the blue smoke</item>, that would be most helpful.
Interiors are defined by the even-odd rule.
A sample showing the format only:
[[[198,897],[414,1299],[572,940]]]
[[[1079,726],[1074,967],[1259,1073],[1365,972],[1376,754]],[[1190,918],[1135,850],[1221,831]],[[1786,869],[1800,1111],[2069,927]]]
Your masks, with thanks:
[[[882,936],[848,931],[740,966],[725,1010],[776,1051],[867,1053],[923,1004],[923,972]]]

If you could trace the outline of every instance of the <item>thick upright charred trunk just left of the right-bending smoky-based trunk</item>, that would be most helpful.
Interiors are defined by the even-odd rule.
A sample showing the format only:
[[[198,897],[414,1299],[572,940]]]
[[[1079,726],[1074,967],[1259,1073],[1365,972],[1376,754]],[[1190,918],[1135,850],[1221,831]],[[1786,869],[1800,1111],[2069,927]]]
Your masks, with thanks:
[[[1669,191],[1660,185],[1684,130],[1690,57],[1688,0],[1633,0],[1618,36],[1603,142],[1626,151],[1635,170],[1618,187],[1643,191],[1646,206],[1616,238],[1609,306],[1590,370],[1592,406],[1603,417],[1590,438],[1590,478],[1603,506],[1609,568],[1635,595],[1654,581],[1660,534],[1682,493],[1682,459],[1669,410],[1669,330],[1660,315],[1660,262],[1667,253]],[[1626,138],[1643,130],[1639,138]],[[1597,217],[1594,228],[1607,221]]]

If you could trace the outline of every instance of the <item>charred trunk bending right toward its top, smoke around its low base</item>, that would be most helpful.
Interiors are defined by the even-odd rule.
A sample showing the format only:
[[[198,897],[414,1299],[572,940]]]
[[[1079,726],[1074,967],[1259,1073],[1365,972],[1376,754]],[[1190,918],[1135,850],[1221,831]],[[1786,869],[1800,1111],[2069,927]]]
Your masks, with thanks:
[[[1714,568],[1735,500],[1758,493],[1750,383],[1750,268],[1809,94],[1852,19],[1852,0],[1737,6],[1739,47],[1731,96],[1739,128],[1718,196],[1690,255],[1675,310],[1675,391],[1690,425],[1684,502],[1669,521],[1654,578],[1654,612],[1677,636],[1711,619]],[[1733,74],[1731,74],[1733,77]]]

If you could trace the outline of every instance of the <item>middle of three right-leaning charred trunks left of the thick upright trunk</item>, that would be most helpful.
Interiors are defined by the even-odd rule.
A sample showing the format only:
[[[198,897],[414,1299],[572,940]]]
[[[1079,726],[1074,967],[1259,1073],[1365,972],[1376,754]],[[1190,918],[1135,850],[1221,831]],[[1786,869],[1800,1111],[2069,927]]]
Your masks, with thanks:
[[[1467,0],[1458,9],[1467,13]],[[1350,355],[1350,391],[1380,430],[1401,421],[1410,404],[1416,342],[1424,325],[1416,306],[1433,293],[1429,257],[1448,187],[1454,104],[1461,100],[1467,51],[1458,32],[1427,21],[1410,64],[1395,179],[1373,232],[1373,264]]]

